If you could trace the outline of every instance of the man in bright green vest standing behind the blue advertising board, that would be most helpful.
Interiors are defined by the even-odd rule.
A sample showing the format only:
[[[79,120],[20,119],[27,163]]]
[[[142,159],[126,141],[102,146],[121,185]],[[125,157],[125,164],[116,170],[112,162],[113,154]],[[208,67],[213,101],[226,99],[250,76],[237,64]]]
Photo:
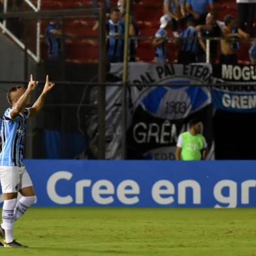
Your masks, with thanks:
[[[201,134],[202,122],[191,120],[189,121],[189,127],[189,131],[181,133],[178,137],[175,153],[176,160],[193,161],[206,159],[208,146],[206,139]]]

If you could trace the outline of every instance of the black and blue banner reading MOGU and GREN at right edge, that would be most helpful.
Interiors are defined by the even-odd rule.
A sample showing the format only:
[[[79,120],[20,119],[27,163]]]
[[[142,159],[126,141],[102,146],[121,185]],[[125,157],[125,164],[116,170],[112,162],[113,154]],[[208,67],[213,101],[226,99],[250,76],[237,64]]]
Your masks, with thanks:
[[[214,76],[223,86],[212,88],[215,108],[233,112],[256,112],[256,67],[254,65],[222,65],[214,67]],[[233,86],[225,86],[232,82]]]

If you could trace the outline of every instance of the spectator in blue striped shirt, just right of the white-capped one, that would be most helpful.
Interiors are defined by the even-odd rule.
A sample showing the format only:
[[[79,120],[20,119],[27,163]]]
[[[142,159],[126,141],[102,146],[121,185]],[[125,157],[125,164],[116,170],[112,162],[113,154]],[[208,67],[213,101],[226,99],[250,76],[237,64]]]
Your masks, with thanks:
[[[176,44],[177,42],[180,45],[178,63],[189,64],[196,62],[199,40],[193,18],[190,17],[187,20],[187,28],[180,34],[180,38],[176,41]]]

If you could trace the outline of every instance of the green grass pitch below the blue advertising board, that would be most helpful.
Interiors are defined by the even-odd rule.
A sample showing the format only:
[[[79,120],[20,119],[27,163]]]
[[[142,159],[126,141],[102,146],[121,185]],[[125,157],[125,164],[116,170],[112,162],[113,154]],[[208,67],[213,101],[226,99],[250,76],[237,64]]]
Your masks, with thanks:
[[[0,255],[256,255],[256,209],[31,208]]]

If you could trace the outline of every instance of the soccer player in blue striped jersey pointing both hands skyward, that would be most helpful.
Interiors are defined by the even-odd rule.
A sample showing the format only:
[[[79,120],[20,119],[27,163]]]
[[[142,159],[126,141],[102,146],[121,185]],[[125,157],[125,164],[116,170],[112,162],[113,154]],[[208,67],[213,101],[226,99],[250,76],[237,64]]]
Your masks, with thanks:
[[[0,182],[4,196],[0,236],[4,240],[5,248],[26,247],[14,240],[14,221],[22,217],[36,200],[33,184],[23,163],[25,125],[29,116],[34,116],[41,110],[47,93],[54,87],[46,76],[41,95],[31,108],[27,108],[30,95],[37,88],[37,84],[31,75],[27,89],[16,86],[7,93],[8,103],[12,107],[3,116],[0,153]],[[22,195],[20,200],[17,200],[18,192]]]

